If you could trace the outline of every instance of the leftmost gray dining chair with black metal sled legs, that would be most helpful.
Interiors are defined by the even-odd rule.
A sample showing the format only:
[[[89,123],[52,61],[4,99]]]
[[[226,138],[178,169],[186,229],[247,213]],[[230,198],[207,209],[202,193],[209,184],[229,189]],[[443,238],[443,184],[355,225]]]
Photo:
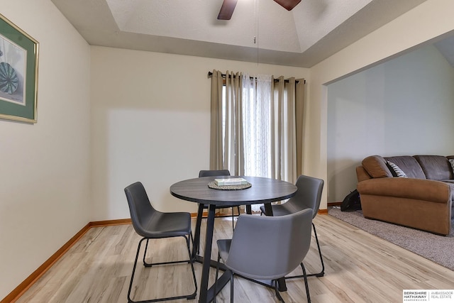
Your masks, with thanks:
[[[135,182],[125,188],[126,199],[128,200],[129,211],[131,213],[131,221],[135,232],[143,238],[139,241],[137,253],[135,254],[133,273],[131,275],[131,282],[129,283],[128,289],[128,302],[131,303],[145,303],[145,302],[158,302],[172,299],[194,299],[197,294],[197,282],[196,275],[194,272],[194,260],[191,254],[190,240],[193,241],[191,231],[191,214],[187,212],[173,212],[166,213],[157,211],[145,192],[143,184]],[[160,238],[174,238],[183,237],[186,239],[187,252],[189,260],[177,260],[168,261],[161,263],[147,263],[145,262],[145,255],[147,254],[148,241],[150,239]],[[137,266],[137,260],[140,252],[140,246],[143,241],[146,240],[145,251],[143,252],[143,265],[145,267],[151,267],[155,265],[167,265],[175,263],[190,263],[192,269],[192,278],[194,279],[195,290],[192,294],[179,295],[175,297],[165,297],[158,299],[148,299],[143,301],[133,301],[131,299],[131,289],[133,287],[133,279],[135,274],[135,268]],[[194,249],[194,247],[193,247]],[[168,286],[169,280],[163,281]],[[157,285],[153,285],[157,287]],[[176,287],[175,287],[176,288]]]

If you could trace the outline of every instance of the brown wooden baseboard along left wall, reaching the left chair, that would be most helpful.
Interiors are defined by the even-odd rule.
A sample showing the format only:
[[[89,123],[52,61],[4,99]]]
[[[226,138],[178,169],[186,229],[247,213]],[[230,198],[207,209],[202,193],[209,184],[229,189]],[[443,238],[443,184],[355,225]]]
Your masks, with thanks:
[[[77,241],[79,241],[82,236],[84,236],[87,231],[92,227],[101,227],[101,226],[113,226],[121,224],[131,224],[131,219],[118,219],[118,220],[106,220],[106,221],[92,221],[84,226],[78,233],[76,233],[70,241],[67,241],[59,250],[57,250],[48,260],[46,260],[38,269],[36,269],[31,275],[29,275],[26,280],[23,280],[12,292],[10,292],[6,297],[4,297],[0,303],[13,303],[21,297],[21,295],[26,292],[32,285],[42,277],[45,272],[47,272],[52,265],[57,262],[63,255],[74,246]]]

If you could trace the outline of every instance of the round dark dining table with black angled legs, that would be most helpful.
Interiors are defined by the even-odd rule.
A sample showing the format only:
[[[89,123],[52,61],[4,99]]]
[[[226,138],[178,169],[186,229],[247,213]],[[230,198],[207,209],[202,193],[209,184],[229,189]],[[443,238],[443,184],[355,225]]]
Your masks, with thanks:
[[[231,189],[232,187],[223,187],[222,189],[213,188],[212,184],[214,180],[219,178],[243,178],[251,186],[245,189]],[[193,257],[195,260],[202,263],[199,302],[211,302],[216,296],[214,293],[215,287],[208,287],[210,266],[214,266],[216,263],[216,261],[211,260],[211,246],[213,242],[216,208],[223,206],[232,207],[239,205],[250,206],[252,204],[265,204],[266,214],[272,215],[271,202],[288,199],[293,197],[296,192],[297,187],[292,183],[266,177],[249,176],[198,177],[183,180],[170,186],[170,193],[174,197],[199,204],[196,230],[194,233],[194,248],[198,248],[200,243],[200,226],[204,204],[209,205],[203,257],[196,255],[196,249],[193,248]],[[229,280],[230,275],[224,272],[218,279],[216,292],[219,292]],[[284,289],[282,289],[280,285],[279,289],[285,290],[284,279],[282,279],[282,284]]]

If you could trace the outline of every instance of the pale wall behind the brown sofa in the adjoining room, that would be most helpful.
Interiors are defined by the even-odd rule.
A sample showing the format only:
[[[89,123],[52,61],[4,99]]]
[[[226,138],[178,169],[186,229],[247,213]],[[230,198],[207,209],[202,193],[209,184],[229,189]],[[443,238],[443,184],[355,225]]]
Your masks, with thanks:
[[[328,85],[328,202],[368,155],[450,155],[454,69],[433,45]]]

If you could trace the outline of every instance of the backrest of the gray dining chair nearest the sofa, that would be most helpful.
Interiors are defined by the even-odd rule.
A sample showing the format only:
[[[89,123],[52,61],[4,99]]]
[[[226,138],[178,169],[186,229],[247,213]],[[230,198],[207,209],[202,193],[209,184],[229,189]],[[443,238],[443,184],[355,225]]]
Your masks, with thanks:
[[[289,199],[285,204],[292,207],[292,212],[302,209],[313,209],[313,218],[319,211],[321,202],[321,193],[323,192],[323,180],[301,175],[297,179],[297,194]]]

